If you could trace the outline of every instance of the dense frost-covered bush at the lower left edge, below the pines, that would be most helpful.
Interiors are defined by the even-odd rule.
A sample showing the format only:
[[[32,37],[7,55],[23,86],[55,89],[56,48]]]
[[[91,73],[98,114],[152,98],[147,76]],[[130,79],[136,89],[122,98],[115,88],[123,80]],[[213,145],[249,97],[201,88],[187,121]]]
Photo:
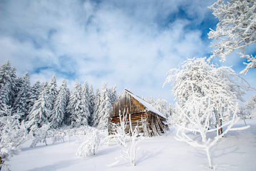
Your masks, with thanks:
[[[21,152],[19,146],[28,139],[30,123],[24,120],[19,122],[20,115],[11,112],[8,107],[2,110],[0,116],[0,170],[9,170],[10,165],[6,165],[5,161]]]

